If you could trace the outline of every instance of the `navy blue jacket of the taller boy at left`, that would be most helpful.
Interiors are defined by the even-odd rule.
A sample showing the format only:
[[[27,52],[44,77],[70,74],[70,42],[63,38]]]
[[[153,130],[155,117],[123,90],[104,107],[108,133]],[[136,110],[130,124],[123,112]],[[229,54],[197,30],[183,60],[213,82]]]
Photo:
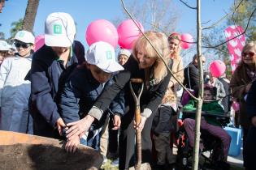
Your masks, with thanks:
[[[59,56],[46,45],[34,53],[30,74],[31,97],[29,102],[34,134],[55,137],[54,125],[60,117],[55,103],[56,96],[76,64],[76,54],[72,53],[65,68]]]

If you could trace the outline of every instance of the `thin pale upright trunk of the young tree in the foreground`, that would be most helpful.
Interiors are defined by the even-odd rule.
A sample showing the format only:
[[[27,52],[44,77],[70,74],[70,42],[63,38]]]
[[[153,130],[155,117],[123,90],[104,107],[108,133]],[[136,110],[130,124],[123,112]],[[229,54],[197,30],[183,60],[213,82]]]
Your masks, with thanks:
[[[197,115],[196,115],[196,127],[195,127],[195,141],[193,147],[193,170],[198,169],[199,162],[199,142],[200,142],[200,125],[201,125],[201,113],[202,113],[202,98],[203,98],[203,70],[202,70],[202,56],[201,56],[201,2],[197,0],[197,57],[198,57],[198,74],[199,74],[199,92],[197,100]]]

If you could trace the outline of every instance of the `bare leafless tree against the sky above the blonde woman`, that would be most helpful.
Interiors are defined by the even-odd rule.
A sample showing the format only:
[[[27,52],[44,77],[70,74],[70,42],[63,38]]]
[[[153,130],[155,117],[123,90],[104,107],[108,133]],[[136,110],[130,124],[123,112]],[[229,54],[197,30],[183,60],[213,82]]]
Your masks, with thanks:
[[[171,0],[132,0],[127,2],[126,6],[131,15],[146,30],[163,32],[167,35],[176,32],[179,15],[177,7]],[[118,26],[124,19],[130,19],[125,11],[123,17],[118,16],[112,23]]]

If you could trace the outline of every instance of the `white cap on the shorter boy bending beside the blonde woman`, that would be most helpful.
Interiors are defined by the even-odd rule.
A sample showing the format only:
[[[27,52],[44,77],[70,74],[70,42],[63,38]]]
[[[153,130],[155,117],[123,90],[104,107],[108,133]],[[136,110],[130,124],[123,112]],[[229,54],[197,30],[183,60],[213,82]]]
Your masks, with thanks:
[[[98,41],[89,46],[85,60],[91,65],[98,66],[106,73],[124,70],[124,67],[115,61],[115,49],[112,45]]]

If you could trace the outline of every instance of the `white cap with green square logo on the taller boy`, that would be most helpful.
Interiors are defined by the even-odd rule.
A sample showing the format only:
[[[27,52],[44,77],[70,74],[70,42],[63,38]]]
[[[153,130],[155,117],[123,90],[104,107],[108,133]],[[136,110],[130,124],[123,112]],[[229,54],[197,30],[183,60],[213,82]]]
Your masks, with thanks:
[[[64,12],[48,15],[45,23],[45,43],[52,47],[70,47],[76,34],[72,16]]]

